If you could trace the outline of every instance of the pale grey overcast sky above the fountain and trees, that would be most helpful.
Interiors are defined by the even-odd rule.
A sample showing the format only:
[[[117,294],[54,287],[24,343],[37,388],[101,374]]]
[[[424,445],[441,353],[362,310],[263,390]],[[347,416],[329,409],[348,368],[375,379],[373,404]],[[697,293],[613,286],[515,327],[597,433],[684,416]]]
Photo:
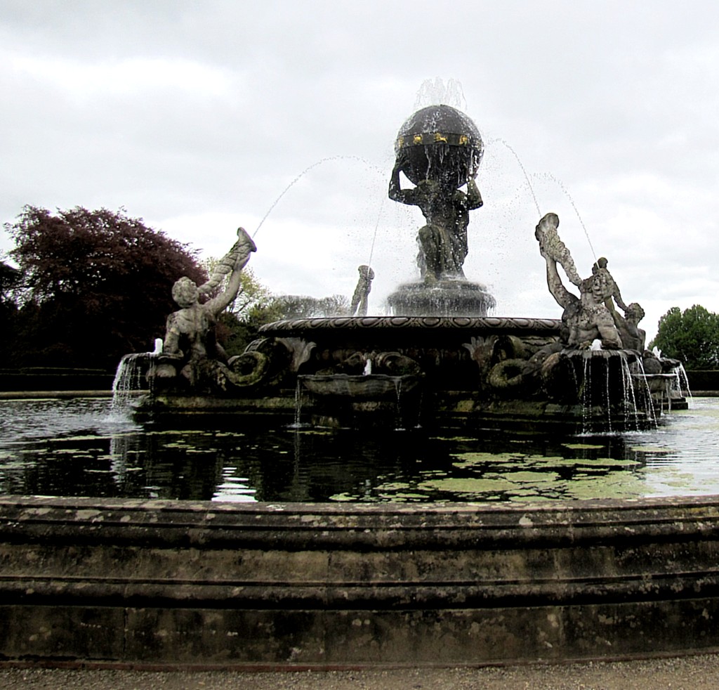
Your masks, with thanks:
[[[393,142],[436,78],[485,140],[465,273],[496,314],[559,317],[549,211],[650,337],[719,312],[710,0],[0,0],[0,221],[124,207],[213,256],[242,225],[271,290],[349,296],[371,260],[384,313],[423,224],[386,198]]]

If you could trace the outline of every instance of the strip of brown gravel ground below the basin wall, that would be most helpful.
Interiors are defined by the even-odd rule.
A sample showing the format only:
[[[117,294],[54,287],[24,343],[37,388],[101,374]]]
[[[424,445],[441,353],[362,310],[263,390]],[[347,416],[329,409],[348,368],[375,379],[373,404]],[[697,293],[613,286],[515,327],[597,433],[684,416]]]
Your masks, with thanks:
[[[277,673],[0,668],[0,687],[52,690],[716,690],[719,687],[719,655],[492,668]]]

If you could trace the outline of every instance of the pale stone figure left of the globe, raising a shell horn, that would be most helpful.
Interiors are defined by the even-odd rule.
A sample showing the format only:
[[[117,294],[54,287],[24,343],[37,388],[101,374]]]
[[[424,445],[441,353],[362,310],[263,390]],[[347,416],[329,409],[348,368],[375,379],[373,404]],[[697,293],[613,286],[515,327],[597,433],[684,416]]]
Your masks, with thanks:
[[[222,258],[209,281],[199,287],[187,277],[175,282],[173,299],[180,309],[170,314],[167,320],[156,374],[160,378],[172,378],[180,373],[191,386],[195,386],[208,360],[226,362],[224,348],[215,337],[216,320],[237,296],[242,268],[247,264],[250,253],[257,250],[244,228],[237,230],[237,237],[237,242]],[[218,286],[226,272],[230,273],[226,289],[201,303],[200,296]]]

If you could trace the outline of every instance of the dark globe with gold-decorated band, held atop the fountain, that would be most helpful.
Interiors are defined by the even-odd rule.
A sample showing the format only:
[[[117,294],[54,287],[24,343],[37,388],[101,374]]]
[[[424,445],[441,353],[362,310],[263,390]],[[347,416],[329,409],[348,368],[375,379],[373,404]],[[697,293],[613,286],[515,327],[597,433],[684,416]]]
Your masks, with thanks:
[[[452,106],[418,110],[400,127],[395,141],[402,171],[413,184],[446,181],[454,189],[477,173],[484,144],[477,125]]]

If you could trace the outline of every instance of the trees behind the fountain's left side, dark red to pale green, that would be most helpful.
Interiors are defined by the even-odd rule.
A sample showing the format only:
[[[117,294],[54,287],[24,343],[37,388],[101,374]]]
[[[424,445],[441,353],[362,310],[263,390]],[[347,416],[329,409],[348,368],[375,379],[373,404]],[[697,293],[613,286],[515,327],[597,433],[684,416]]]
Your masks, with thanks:
[[[0,262],[0,368],[114,371],[122,355],[152,350],[164,336],[165,319],[177,309],[173,283],[182,276],[203,283],[213,263],[200,263],[196,250],[124,209],[25,206],[4,227],[17,268]],[[263,323],[348,307],[343,296],[274,296],[246,268],[218,336],[239,353]]]

